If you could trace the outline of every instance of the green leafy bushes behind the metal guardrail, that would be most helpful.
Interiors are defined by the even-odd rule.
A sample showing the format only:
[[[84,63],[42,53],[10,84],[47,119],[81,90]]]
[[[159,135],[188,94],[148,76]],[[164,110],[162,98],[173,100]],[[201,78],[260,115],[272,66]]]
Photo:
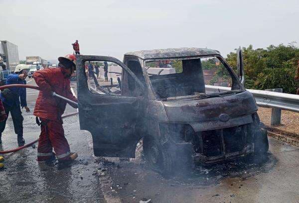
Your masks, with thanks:
[[[227,55],[226,61],[237,71],[236,50]],[[299,60],[296,42],[288,45],[270,45],[253,49],[243,47],[245,87],[248,89],[283,88],[285,93],[295,94],[299,87],[295,74]]]

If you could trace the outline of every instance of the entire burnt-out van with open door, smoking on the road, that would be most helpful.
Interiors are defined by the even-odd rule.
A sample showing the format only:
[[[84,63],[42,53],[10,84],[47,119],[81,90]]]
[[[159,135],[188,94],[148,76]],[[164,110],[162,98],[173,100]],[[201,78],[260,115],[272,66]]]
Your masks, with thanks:
[[[240,49],[238,75],[211,49],[129,52],[123,62],[76,57],[80,128],[92,134],[95,156],[134,158],[143,139],[151,167],[169,173],[180,164],[213,164],[268,151],[257,104],[244,88]],[[107,61],[119,71],[109,73],[111,84],[90,81],[88,61]]]

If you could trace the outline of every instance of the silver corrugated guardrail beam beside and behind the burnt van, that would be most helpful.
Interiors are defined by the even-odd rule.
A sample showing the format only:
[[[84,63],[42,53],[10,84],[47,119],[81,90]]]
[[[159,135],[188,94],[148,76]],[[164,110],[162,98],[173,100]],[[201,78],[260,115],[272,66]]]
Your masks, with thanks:
[[[206,85],[206,91],[209,92],[229,90],[231,90],[230,87]],[[258,106],[299,112],[299,95],[255,89],[247,89],[247,91],[253,94]]]

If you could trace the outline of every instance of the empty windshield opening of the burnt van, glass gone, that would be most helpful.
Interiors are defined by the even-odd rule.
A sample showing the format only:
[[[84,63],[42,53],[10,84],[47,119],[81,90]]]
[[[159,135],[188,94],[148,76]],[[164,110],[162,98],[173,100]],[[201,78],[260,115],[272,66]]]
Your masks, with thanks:
[[[161,99],[185,96],[204,98],[220,93],[217,86],[225,87],[227,93],[241,90],[231,68],[214,56],[147,61],[146,69],[153,90]]]

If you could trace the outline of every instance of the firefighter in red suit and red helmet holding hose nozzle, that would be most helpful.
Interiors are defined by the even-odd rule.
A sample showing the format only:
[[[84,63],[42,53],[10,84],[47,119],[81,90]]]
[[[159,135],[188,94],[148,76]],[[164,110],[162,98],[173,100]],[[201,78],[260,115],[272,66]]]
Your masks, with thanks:
[[[37,161],[49,161],[57,157],[59,162],[71,161],[78,157],[70,152],[70,146],[64,137],[61,115],[64,113],[66,101],[52,96],[53,92],[77,102],[70,87],[71,74],[76,69],[76,57],[68,54],[58,58],[58,67],[35,71],[33,78],[40,87],[33,115],[36,123],[41,125],[41,133],[37,147]],[[69,103],[72,107],[77,105]],[[55,154],[52,152],[54,148]]]

